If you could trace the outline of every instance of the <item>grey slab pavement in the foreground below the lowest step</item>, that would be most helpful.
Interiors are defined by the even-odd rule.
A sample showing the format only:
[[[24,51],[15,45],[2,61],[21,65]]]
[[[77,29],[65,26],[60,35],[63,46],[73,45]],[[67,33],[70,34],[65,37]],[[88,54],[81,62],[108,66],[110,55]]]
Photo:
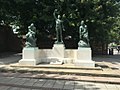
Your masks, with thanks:
[[[21,78],[20,75],[0,73],[0,90],[120,90],[119,84]]]

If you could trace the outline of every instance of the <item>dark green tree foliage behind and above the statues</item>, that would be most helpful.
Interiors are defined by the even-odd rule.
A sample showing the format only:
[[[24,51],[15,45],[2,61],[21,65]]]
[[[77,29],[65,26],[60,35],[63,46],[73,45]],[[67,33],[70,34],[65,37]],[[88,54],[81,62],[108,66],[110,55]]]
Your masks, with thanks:
[[[84,20],[88,25],[90,41],[107,43],[116,36],[115,32],[120,28],[118,1],[0,0],[0,21],[20,26],[20,32],[24,34],[27,26],[33,22],[39,36],[54,37],[53,11],[57,8],[64,20],[65,37],[71,36],[78,40],[78,27],[80,21]]]

